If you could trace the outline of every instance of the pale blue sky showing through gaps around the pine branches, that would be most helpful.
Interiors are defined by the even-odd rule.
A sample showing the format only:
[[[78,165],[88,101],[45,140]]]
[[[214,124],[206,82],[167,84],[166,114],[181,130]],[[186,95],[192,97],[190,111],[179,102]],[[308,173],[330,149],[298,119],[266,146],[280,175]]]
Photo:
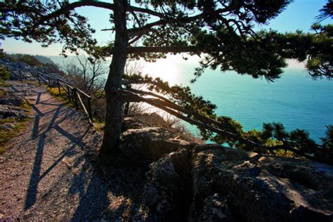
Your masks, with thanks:
[[[308,31],[315,22],[315,16],[327,0],[294,0],[289,4],[287,9],[283,11],[277,18],[271,20],[268,25],[261,25],[263,29],[273,29],[280,32],[294,32],[296,30]],[[105,44],[112,40],[111,32],[102,32],[100,30],[111,27],[109,22],[109,13],[106,9],[84,7],[78,8],[77,12],[86,16],[89,23],[96,30],[95,37],[99,44]],[[330,22],[326,20],[326,23]],[[32,44],[15,39],[0,40],[1,48],[6,53],[25,53],[31,55],[59,55],[62,45],[53,44],[47,48],[42,48],[39,43]]]

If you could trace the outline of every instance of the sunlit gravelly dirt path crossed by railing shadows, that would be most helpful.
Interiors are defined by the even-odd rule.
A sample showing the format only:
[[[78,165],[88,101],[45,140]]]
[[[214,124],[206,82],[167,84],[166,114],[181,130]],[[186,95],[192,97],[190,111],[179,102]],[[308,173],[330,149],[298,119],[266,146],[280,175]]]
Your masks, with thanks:
[[[142,218],[131,201],[142,175],[125,169],[105,174],[91,158],[101,136],[80,112],[45,90],[27,99],[32,121],[0,156],[0,219]]]

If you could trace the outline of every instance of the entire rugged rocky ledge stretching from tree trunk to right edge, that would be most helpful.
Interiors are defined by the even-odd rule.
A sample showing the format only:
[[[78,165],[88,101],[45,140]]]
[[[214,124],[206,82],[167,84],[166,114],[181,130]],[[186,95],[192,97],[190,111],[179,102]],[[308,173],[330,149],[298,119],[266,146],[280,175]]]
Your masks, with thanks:
[[[149,162],[142,202],[152,221],[332,221],[333,167],[199,145],[125,119],[122,152]]]

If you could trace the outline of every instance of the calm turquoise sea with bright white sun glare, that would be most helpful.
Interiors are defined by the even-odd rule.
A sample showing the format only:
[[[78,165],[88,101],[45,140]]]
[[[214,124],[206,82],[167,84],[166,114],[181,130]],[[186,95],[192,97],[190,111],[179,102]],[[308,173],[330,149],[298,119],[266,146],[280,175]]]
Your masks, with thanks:
[[[59,56],[49,58],[62,64]],[[288,131],[306,129],[311,138],[319,142],[320,137],[325,136],[325,126],[333,124],[333,81],[313,80],[303,65],[289,65],[274,82],[233,71],[207,69],[191,84],[195,67],[199,66],[197,60],[183,60],[174,55],[156,63],[136,63],[143,74],[161,77],[170,84],[190,86],[192,93],[216,104],[218,115],[232,117],[244,130],[262,129],[263,123],[281,122]],[[185,126],[197,134],[195,126]]]

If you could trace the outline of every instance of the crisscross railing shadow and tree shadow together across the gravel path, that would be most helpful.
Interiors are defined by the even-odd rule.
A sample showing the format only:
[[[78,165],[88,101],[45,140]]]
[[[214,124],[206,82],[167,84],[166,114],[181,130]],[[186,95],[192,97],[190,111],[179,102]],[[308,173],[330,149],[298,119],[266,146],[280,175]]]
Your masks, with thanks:
[[[36,103],[43,104],[44,101],[40,101],[37,96]],[[51,101],[50,101],[51,102]],[[37,189],[39,182],[52,171],[65,157],[73,157],[73,167],[79,169],[72,176],[70,181],[70,188],[67,192],[67,196],[79,195],[79,203],[77,209],[74,211],[71,221],[92,221],[100,220],[100,218],[107,218],[112,220],[119,220],[119,217],[127,212],[126,215],[132,215],[134,213],[129,211],[129,202],[133,198],[133,192],[136,190],[143,190],[144,172],[136,171],[136,169],[129,169],[124,167],[107,169],[107,172],[103,171],[103,166],[96,164],[96,158],[86,152],[86,143],[83,142],[83,138],[89,132],[89,127],[85,131],[80,133],[70,133],[65,128],[60,126],[60,123],[67,118],[73,117],[77,111],[72,109],[63,108],[64,105],[58,105],[52,111],[41,112],[36,105],[32,105],[32,108],[36,112],[34,118],[34,125],[32,131],[32,140],[37,139],[38,145],[36,150],[36,156],[34,159],[34,165],[32,174],[30,176],[30,182],[27,188],[27,196],[25,199],[25,210],[30,209],[37,202]],[[51,117],[51,121],[45,127],[46,129],[40,133],[41,118],[45,117],[50,112],[54,112]],[[72,120],[72,122],[74,122]],[[43,126],[44,127],[44,126]],[[41,171],[41,163],[43,161],[44,149],[48,133],[51,131],[57,131],[62,136],[70,141],[68,148],[65,148],[63,152],[54,160],[54,162],[48,166],[45,171]],[[91,144],[89,144],[91,146]],[[96,144],[97,146],[98,144]],[[83,155],[77,155],[77,150],[80,148],[84,153]],[[138,188],[139,187],[139,188]],[[138,192],[140,194],[140,192]],[[138,194],[137,193],[137,194]],[[109,198],[114,196],[117,199],[117,206],[114,206],[114,202],[110,202]],[[55,195],[56,198],[56,195]],[[115,201],[115,200],[112,200]],[[128,212],[129,211],[129,212]]]

